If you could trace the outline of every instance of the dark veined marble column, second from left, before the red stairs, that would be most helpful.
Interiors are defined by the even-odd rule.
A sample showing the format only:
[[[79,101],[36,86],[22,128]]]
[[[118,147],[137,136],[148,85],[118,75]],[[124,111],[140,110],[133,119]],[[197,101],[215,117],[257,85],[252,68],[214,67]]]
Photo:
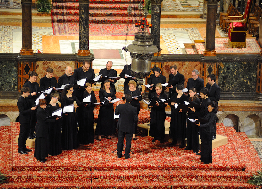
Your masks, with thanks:
[[[89,56],[89,0],[79,0],[79,56]]]

